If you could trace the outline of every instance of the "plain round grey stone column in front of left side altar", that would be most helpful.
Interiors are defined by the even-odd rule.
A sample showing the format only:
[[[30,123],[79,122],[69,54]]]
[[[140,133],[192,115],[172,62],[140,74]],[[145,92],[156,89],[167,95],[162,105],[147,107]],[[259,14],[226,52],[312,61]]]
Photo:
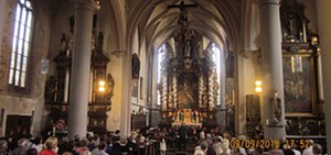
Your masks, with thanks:
[[[74,49],[70,90],[68,136],[86,136],[94,0],[75,1]]]

